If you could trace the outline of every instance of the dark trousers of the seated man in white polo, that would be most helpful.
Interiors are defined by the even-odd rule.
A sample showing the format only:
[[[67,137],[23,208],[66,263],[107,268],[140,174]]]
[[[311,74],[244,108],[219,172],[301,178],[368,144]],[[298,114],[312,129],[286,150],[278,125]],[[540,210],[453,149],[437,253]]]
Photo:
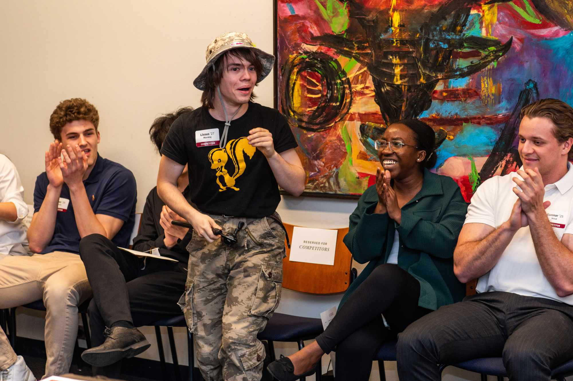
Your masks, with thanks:
[[[398,336],[398,376],[439,380],[436,364],[503,357],[511,380],[549,380],[573,357],[573,307],[541,297],[484,292],[446,305]]]

